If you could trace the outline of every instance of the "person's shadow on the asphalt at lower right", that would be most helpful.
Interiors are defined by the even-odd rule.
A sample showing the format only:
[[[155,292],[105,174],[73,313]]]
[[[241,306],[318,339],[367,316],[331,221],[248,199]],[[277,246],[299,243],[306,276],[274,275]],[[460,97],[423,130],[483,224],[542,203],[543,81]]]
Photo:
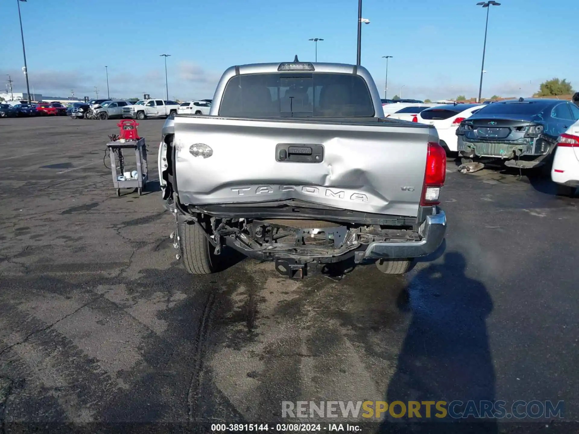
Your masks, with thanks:
[[[468,278],[460,253],[444,255],[444,263],[431,264],[417,273],[398,299],[398,308],[412,312],[411,323],[390,380],[386,402],[420,404],[422,418],[391,417],[380,425],[383,433],[496,433],[496,424],[470,425],[472,417],[456,420],[441,414],[435,404],[426,417],[424,401],[493,401],[495,375],[486,332],[493,303],[485,286]],[[457,412],[465,406],[454,407]],[[400,413],[401,407],[395,408]],[[449,423],[454,422],[454,423]],[[465,422],[471,422],[469,424]],[[473,431],[470,431],[470,428]]]

